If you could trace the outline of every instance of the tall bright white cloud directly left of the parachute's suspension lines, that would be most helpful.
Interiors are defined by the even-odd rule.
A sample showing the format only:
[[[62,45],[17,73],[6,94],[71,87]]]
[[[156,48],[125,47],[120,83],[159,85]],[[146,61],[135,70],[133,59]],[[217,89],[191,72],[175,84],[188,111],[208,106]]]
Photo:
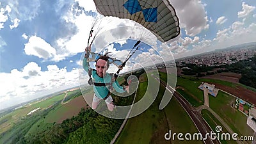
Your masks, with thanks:
[[[61,16],[61,19],[65,20],[67,24],[76,26],[77,33],[75,35],[63,36],[56,40],[56,55],[52,58],[54,61],[64,60],[67,56],[73,56],[78,52],[83,52],[87,46],[87,40],[94,18],[90,15],[85,15],[84,12],[80,15],[74,15],[73,12],[74,10],[70,8]],[[93,33],[94,35],[95,33]]]

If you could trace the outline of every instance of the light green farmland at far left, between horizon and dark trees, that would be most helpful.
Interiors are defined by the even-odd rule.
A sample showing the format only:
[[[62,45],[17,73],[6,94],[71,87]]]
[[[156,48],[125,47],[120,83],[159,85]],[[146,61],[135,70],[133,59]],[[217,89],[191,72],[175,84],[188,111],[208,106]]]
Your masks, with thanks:
[[[86,90],[90,92],[92,90]],[[73,92],[81,95],[80,90],[75,90]],[[82,99],[83,97],[79,95],[74,95],[73,99]],[[67,104],[61,104],[61,100],[63,100],[65,93],[56,95],[54,97],[50,97],[45,100],[40,100],[38,102],[33,102],[29,105],[26,105],[22,108],[16,109],[12,113],[8,113],[4,115],[1,120],[4,122],[1,126],[1,135],[0,135],[0,143],[12,143],[11,141],[15,139],[15,136],[28,136],[28,134],[33,134],[40,131],[46,131],[47,129],[51,129],[51,127],[58,122],[63,116],[65,118],[71,118],[72,116],[77,115],[77,113],[81,110],[81,108],[76,105],[70,106],[71,101],[73,100],[70,97],[70,100]],[[27,114],[36,108],[38,111],[35,111],[32,115]],[[76,113],[74,113],[76,111]],[[5,134],[3,134],[3,132]],[[5,142],[4,142],[5,141]]]

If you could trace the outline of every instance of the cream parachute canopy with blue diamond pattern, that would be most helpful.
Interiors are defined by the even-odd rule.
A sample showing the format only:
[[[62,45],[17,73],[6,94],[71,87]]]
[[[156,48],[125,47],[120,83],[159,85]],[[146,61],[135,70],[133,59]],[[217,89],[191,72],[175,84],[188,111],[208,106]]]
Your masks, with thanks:
[[[149,29],[162,42],[180,34],[179,19],[168,0],[93,0],[104,16],[131,19]]]

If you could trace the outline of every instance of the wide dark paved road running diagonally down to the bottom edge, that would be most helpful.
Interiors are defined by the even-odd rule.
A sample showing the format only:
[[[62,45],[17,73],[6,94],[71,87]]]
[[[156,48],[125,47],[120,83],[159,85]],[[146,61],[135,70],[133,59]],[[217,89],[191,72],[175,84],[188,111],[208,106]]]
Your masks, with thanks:
[[[166,87],[166,89],[168,89],[169,92],[174,92],[173,97],[175,97],[175,99],[178,100],[180,105],[186,110],[186,112],[190,116],[191,120],[193,120],[194,124],[196,125],[196,128],[198,129],[200,134],[202,134],[205,144],[220,143],[219,140],[211,140],[210,136],[207,135],[207,133],[210,134],[210,132],[212,131],[211,127],[209,127],[207,122],[205,122],[205,120],[202,118],[202,115],[200,112],[198,112],[198,109],[191,106],[191,104],[189,104],[189,102],[186,99],[184,99],[184,97],[182,97],[182,95],[180,95],[178,92],[168,88],[169,86],[166,86],[166,83],[164,81],[162,81],[161,79],[157,79],[157,81],[163,84],[163,86]],[[205,136],[207,136],[207,138],[205,138]]]

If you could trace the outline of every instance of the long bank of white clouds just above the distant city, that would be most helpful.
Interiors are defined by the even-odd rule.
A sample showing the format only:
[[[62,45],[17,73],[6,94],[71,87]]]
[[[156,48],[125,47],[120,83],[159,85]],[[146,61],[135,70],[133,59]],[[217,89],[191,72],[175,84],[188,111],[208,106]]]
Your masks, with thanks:
[[[236,21],[229,28],[219,30],[213,40],[201,40],[198,44],[193,44],[192,50],[186,50],[186,47],[174,46],[175,58],[182,58],[184,56],[191,56],[200,54],[202,52],[214,51],[230,47],[232,45],[244,44],[248,42],[255,42],[256,24],[251,23],[249,26],[244,22]],[[183,42],[180,40],[180,42]]]

